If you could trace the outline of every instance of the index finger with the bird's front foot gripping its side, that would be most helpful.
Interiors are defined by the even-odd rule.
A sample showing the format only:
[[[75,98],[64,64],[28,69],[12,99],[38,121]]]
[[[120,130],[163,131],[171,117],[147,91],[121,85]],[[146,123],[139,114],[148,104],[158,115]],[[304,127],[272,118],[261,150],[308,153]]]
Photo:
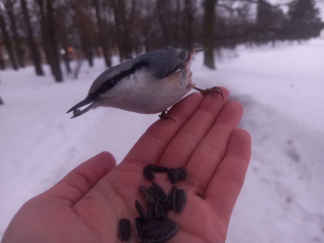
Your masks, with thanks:
[[[160,119],[153,123],[133,146],[123,162],[157,163],[171,139],[198,109],[202,100],[201,94],[192,93],[176,103],[168,111],[168,116],[176,122],[170,119]]]

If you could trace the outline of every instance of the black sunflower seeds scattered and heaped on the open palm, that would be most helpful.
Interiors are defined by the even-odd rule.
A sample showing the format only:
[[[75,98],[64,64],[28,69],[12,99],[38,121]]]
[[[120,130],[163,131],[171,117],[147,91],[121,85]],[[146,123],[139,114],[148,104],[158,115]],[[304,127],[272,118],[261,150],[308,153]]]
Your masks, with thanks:
[[[182,167],[168,169],[149,164],[143,169],[143,174],[148,180],[155,179],[153,172],[167,172],[172,184],[188,178],[186,169]],[[183,189],[173,186],[167,196],[155,182],[148,188],[140,186],[139,189],[148,204],[148,210],[145,211],[142,204],[137,200],[135,201],[135,207],[139,214],[139,217],[135,218],[136,236],[141,243],[165,243],[179,230],[179,225],[167,218],[167,210],[174,209],[176,213],[180,213],[186,203],[187,193]],[[128,241],[131,235],[131,222],[129,219],[121,219],[118,230],[121,241]]]

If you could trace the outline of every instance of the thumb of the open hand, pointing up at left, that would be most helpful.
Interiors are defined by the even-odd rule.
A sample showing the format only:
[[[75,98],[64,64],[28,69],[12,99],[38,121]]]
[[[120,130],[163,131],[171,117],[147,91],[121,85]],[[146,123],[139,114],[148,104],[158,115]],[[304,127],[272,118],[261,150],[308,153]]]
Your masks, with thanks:
[[[60,199],[72,207],[115,166],[115,158],[108,152],[102,152],[73,169],[41,195]]]

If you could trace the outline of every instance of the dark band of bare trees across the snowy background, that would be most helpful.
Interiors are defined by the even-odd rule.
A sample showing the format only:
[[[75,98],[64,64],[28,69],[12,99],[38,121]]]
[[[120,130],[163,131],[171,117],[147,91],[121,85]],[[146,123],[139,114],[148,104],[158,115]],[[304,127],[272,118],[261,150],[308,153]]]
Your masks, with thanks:
[[[321,0],[318,0],[321,1]],[[282,1],[283,2],[283,1]],[[71,60],[124,61],[166,47],[214,49],[318,37],[324,23],[315,0],[0,0],[0,69],[51,66],[55,81]],[[61,63],[64,65],[61,65]]]

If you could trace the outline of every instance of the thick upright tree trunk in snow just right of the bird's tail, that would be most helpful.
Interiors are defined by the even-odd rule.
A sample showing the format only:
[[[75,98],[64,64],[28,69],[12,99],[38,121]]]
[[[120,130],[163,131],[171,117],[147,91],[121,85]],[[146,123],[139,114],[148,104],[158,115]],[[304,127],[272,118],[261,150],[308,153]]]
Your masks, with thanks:
[[[204,2],[204,23],[203,23],[203,42],[205,51],[204,64],[211,68],[215,68],[214,63],[214,19],[215,5],[217,0],[205,0]]]

